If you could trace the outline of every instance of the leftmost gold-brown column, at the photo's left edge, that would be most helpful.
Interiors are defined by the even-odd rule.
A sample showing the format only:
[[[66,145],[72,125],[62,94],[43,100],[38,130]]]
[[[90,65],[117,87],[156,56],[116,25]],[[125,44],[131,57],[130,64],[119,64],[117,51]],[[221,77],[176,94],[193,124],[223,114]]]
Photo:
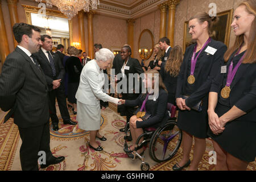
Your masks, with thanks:
[[[2,65],[9,53],[10,50],[6,35],[5,21],[3,20],[2,1],[0,1],[0,59]]]

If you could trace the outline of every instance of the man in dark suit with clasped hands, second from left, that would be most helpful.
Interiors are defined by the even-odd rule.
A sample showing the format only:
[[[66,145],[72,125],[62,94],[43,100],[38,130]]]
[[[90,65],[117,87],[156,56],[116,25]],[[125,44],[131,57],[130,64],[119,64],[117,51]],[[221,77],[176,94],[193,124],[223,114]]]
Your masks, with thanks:
[[[53,130],[59,130],[59,119],[56,115],[56,98],[64,124],[76,125],[71,121],[64,91],[63,77],[65,74],[63,64],[58,55],[52,51],[52,38],[49,35],[42,35],[42,47],[35,53],[44,74],[49,88],[49,110],[52,119]]]

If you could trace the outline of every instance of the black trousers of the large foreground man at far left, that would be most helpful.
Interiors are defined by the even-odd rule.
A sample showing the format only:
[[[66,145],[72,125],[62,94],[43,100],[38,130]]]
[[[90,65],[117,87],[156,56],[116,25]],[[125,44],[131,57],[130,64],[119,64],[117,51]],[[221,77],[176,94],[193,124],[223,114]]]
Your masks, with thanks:
[[[49,122],[44,125],[28,128],[19,127],[19,135],[22,145],[19,150],[20,164],[23,171],[38,171],[39,151],[46,154],[46,162],[53,158],[49,142]]]

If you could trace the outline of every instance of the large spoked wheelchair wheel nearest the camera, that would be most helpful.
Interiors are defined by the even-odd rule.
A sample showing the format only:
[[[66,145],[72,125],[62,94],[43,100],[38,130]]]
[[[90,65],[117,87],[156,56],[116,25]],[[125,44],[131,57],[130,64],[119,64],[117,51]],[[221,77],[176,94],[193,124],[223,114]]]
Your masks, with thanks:
[[[182,132],[176,121],[171,120],[164,127],[159,127],[150,140],[150,156],[155,162],[171,159],[179,150]]]

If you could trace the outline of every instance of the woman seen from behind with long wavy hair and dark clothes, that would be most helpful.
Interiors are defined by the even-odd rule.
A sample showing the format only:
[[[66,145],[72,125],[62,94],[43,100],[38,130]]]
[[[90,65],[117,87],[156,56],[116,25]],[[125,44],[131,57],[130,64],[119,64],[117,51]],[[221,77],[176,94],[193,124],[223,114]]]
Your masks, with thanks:
[[[168,102],[175,104],[175,93],[177,86],[177,75],[180,72],[180,65],[183,61],[182,49],[175,46],[171,49],[169,59],[162,64],[160,75],[168,90]]]

